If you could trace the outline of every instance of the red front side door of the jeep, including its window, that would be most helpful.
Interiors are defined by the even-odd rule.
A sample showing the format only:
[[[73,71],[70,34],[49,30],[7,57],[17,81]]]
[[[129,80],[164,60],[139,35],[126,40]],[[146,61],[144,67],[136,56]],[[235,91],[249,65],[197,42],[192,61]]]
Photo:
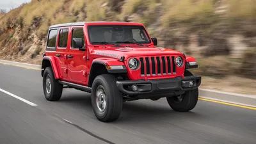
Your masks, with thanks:
[[[71,29],[70,49],[67,55],[68,58],[68,80],[72,83],[86,84],[86,52],[79,51],[78,47],[73,47],[73,38],[82,38],[84,45],[84,29],[83,27],[72,27]]]

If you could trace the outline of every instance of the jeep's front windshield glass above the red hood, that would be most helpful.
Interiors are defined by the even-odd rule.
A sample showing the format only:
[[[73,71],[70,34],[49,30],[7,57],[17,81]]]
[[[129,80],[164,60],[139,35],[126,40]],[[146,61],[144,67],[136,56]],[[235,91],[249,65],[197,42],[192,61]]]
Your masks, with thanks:
[[[88,35],[91,44],[150,44],[150,38],[143,26],[88,26]]]

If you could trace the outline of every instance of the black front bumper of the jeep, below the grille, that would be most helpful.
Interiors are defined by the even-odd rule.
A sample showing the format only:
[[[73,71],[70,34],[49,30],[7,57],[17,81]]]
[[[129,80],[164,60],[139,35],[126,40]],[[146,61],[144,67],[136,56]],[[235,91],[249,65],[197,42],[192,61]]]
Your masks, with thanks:
[[[194,81],[192,87],[188,87],[188,82]],[[201,84],[200,76],[175,77],[173,79],[156,79],[156,80],[138,80],[138,81],[116,81],[116,86],[120,92],[125,95],[152,95],[152,97],[161,97],[164,95],[179,95],[188,90],[194,90]],[[132,90],[136,85],[138,90]],[[151,97],[151,96],[148,96]]]

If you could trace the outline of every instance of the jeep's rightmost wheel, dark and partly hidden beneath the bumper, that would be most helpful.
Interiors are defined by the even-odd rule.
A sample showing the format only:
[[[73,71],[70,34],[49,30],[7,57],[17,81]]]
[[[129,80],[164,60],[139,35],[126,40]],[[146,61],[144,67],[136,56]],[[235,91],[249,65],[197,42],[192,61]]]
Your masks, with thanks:
[[[186,112],[195,108],[198,101],[198,88],[186,91],[183,95],[166,97],[169,106],[174,111]]]

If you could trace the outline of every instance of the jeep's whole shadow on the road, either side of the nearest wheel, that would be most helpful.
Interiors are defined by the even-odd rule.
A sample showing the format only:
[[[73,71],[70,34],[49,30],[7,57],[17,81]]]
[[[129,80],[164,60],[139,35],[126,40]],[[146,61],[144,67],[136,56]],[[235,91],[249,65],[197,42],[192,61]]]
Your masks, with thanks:
[[[173,111],[168,105],[165,99],[157,101],[152,100],[136,100],[131,102],[124,102],[122,114],[114,123],[129,123],[129,122],[141,122],[141,121],[154,121],[154,120],[180,120],[182,118],[198,118],[199,114],[189,111],[188,113],[179,113]],[[92,111],[90,94],[68,94],[61,97],[58,101],[60,104],[67,104],[69,106],[76,106],[77,111],[84,113],[90,113],[94,115]]]

